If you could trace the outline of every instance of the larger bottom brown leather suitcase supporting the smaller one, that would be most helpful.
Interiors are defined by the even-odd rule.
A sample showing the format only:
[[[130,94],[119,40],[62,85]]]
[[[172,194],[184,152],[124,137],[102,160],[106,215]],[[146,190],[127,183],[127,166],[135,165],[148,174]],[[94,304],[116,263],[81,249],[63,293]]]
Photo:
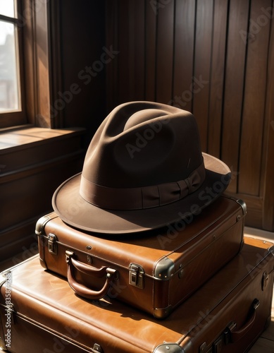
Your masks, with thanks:
[[[1,347],[15,353],[243,353],[270,321],[273,244],[246,238],[228,265],[164,321],[87,301],[35,256],[1,274]]]

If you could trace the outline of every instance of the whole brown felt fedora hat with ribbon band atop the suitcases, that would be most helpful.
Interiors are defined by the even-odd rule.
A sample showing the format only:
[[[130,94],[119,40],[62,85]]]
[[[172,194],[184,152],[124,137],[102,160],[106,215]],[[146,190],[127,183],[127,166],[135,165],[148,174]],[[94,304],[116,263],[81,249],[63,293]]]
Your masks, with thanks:
[[[156,102],[128,102],[108,114],[82,173],[52,205],[73,227],[105,234],[157,229],[199,214],[227,188],[230,169],[201,152],[194,116]]]

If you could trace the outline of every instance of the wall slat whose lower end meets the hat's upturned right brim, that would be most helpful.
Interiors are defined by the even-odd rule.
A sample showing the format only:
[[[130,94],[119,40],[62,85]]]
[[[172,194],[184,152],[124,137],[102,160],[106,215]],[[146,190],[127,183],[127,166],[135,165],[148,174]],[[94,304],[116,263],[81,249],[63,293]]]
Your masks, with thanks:
[[[225,82],[225,50],[228,0],[214,1],[210,97],[208,107],[208,153],[220,158]]]

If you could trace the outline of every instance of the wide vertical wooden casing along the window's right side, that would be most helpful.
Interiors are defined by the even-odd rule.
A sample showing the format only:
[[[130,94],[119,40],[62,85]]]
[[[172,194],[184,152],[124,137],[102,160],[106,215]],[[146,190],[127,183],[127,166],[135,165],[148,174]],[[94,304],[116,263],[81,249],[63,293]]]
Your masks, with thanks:
[[[59,1],[23,0],[27,118],[43,128],[60,128],[62,110],[52,114],[61,89]]]

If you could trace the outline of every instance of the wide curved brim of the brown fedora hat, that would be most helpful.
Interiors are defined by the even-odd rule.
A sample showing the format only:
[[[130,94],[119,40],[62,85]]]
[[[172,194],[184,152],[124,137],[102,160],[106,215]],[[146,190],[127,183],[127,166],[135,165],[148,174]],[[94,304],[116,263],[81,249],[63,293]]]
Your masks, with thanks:
[[[206,177],[201,187],[180,201],[145,210],[105,210],[85,201],[79,194],[81,173],[56,189],[52,206],[63,222],[86,232],[126,234],[187,220],[199,214],[220,196],[230,183],[231,172],[218,158],[203,153]]]

